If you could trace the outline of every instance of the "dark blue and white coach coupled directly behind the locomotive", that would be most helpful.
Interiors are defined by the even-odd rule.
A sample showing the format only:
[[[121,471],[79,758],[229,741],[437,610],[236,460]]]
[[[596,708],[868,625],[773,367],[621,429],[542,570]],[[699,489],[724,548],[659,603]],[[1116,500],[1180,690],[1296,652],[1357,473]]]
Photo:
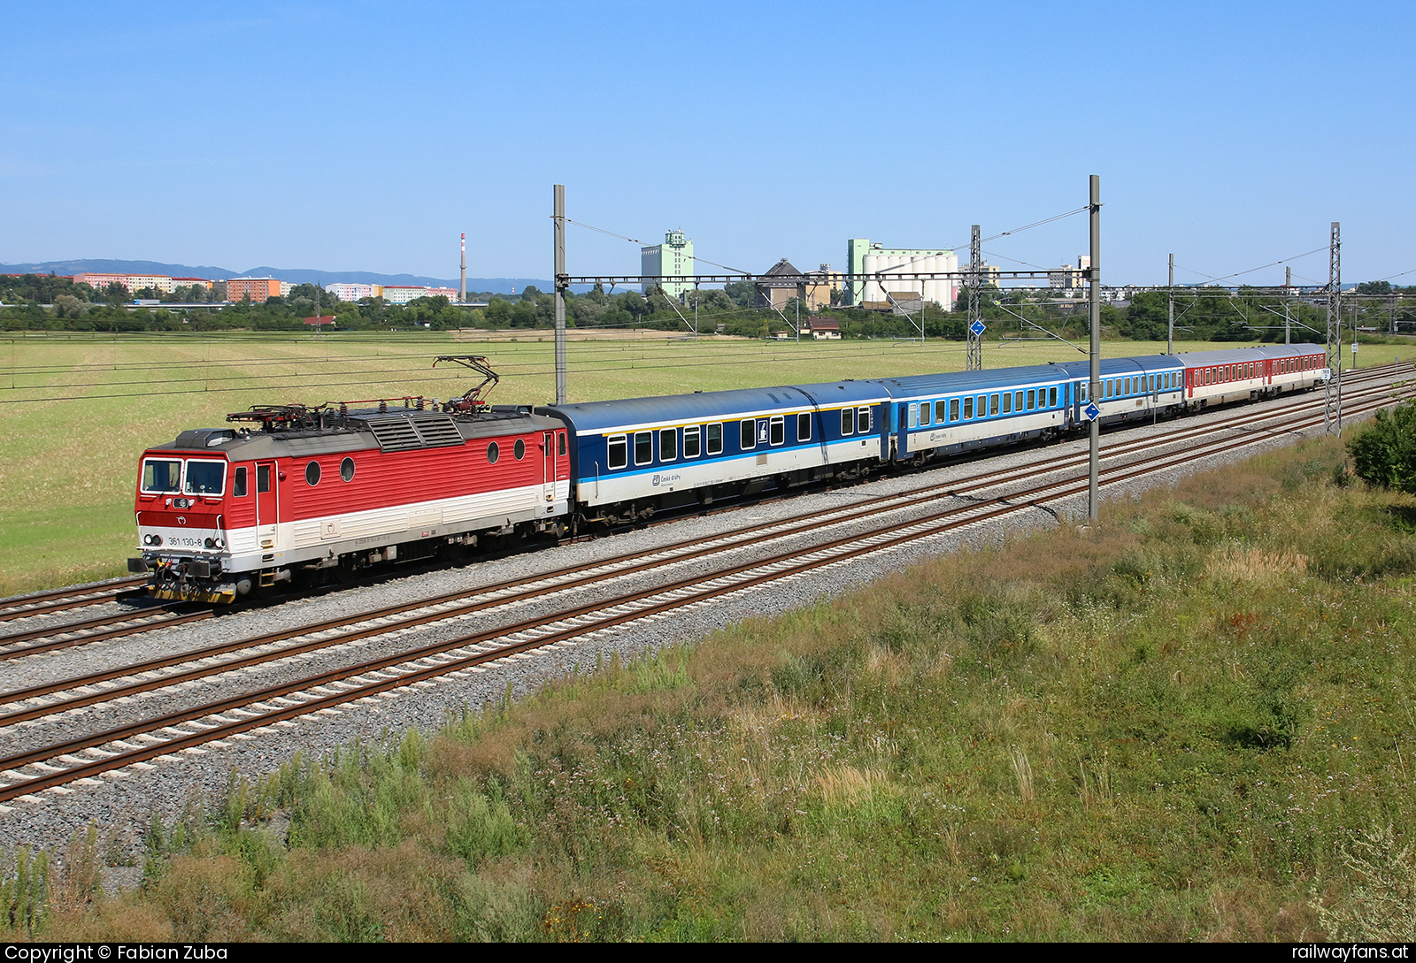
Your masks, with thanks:
[[[889,458],[882,430],[886,402],[881,385],[860,380],[552,404],[537,412],[571,428],[576,502],[617,522],[769,485],[872,471]]]

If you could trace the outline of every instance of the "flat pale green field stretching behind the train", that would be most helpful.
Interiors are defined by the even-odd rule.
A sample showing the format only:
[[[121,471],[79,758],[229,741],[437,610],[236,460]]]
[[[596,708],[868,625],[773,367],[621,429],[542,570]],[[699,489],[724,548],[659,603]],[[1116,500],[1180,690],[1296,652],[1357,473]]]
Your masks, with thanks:
[[[697,342],[646,331],[572,335],[571,400],[878,378],[964,365],[964,345],[932,341]],[[520,338],[520,339],[518,339]],[[1178,351],[1222,345],[1177,344]],[[1163,345],[1103,342],[1107,356]],[[125,574],[133,551],[137,454],[183,428],[224,424],[258,403],[460,395],[440,354],[484,354],[501,403],[554,397],[549,332],[428,335],[14,335],[0,338],[0,595]],[[1369,346],[1364,361],[1416,348]],[[984,365],[1072,361],[1059,342],[984,345]]]

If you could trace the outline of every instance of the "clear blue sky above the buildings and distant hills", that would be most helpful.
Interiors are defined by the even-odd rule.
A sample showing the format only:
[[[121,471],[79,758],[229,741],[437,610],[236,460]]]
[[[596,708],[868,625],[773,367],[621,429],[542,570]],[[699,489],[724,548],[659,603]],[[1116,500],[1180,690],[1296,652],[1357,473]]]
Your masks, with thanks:
[[[4,7],[0,262],[548,277],[569,216],[841,267],[1078,208],[1103,277],[1197,281],[1342,222],[1416,269],[1410,3],[239,3]],[[986,246],[1069,260],[1076,216]],[[572,228],[571,273],[637,272]],[[1327,280],[1325,255],[1294,274]],[[1246,274],[1273,283],[1281,267]],[[1416,273],[1399,279],[1416,283]]]

